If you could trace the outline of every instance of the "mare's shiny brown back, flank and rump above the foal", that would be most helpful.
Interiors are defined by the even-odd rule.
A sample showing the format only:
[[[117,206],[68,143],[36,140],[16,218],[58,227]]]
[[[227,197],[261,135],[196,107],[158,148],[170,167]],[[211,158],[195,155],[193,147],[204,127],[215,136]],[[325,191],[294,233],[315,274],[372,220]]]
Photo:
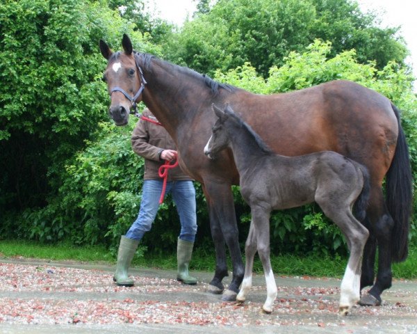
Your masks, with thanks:
[[[352,81],[275,95],[240,92],[231,106],[278,154],[335,151],[382,181],[395,152],[398,121],[391,102]]]

